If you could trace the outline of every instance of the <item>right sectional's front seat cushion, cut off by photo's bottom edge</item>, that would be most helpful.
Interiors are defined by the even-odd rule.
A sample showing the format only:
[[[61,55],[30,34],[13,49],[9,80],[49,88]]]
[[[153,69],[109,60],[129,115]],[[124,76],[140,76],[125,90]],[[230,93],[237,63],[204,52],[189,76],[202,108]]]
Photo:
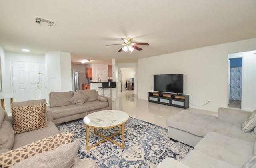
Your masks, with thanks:
[[[208,156],[196,149],[190,151],[180,162],[190,168],[240,168],[233,164]]]

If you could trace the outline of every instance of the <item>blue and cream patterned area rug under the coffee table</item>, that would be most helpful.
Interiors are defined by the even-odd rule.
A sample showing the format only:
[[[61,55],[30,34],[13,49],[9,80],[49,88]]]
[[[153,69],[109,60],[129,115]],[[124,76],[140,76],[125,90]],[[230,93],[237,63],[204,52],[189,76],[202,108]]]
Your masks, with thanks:
[[[87,151],[86,126],[82,119],[57,127],[60,132],[74,131],[73,140],[80,139],[78,158],[92,158],[101,168],[154,168],[166,157],[182,160],[193,149],[170,140],[167,129],[131,117],[124,124],[124,149],[106,140]],[[100,129],[98,132],[110,136],[120,129]],[[103,140],[93,131],[89,128],[89,146]],[[118,134],[112,140],[121,143],[122,135]]]

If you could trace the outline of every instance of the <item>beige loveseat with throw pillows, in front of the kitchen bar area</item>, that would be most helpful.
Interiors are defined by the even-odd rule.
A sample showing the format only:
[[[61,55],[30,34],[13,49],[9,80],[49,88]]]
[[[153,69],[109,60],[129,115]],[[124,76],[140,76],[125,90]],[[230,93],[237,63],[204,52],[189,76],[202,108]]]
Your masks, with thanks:
[[[82,94],[88,96],[82,100]],[[76,98],[76,95],[78,98]],[[78,103],[72,104],[70,99],[76,98]],[[81,102],[83,101],[83,102]],[[84,102],[85,101],[85,102]],[[77,101],[75,101],[77,102]],[[49,95],[47,110],[52,111],[53,122],[60,124],[84,118],[86,115],[101,110],[112,110],[112,98],[99,96],[96,90],[78,90],[74,92],[51,92]]]

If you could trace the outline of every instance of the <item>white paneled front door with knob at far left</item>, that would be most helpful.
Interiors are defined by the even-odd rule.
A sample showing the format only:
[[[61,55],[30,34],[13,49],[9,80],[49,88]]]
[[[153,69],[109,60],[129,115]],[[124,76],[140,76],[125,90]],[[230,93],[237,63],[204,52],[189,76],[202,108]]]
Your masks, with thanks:
[[[38,62],[12,62],[14,101],[40,99]]]

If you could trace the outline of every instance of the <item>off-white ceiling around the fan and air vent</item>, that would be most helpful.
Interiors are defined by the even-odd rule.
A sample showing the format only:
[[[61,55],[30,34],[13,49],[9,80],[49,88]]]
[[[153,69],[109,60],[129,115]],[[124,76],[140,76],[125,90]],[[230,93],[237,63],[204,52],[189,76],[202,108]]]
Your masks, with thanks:
[[[0,0],[0,45],[6,51],[70,52],[73,64],[146,58],[256,38],[256,0]],[[34,16],[56,21],[35,24]],[[142,51],[118,52],[132,37]]]

